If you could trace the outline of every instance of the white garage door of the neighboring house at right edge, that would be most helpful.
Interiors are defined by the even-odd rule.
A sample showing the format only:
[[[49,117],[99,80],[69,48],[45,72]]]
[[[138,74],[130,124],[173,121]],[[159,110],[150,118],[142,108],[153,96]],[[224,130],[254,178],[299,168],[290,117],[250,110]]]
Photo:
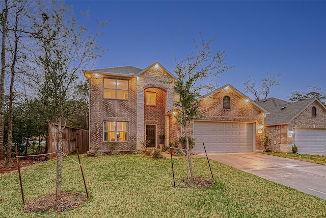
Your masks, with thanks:
[[[294,144],[298,153],[326,152],[326,130],[296,129]]]

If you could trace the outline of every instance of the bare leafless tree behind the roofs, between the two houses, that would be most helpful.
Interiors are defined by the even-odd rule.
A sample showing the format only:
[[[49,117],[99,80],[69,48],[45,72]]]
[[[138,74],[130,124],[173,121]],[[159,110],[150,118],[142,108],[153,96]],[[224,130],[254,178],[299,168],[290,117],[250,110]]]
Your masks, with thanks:
[[[244,92],[250,93],[254,96],[254,101],[260,101],[267,99],[271,89],[273,87],[279,86],[279,78],[281,74],[278,75],[270,75],[267,74],[266,78],[263,78],[260,80],[261,85],[256,85],[256,80],[249,77],[248,80],[246,80],[245,83],[243,83],[244,86]]]

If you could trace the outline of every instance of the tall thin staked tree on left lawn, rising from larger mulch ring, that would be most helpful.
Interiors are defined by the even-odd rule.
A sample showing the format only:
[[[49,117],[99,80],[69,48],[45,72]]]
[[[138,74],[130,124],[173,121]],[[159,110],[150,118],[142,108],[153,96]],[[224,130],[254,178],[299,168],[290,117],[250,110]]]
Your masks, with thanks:
[[[93,34],[85,26],[77,25],[72,7],[53,1],[39,5],[34,20],[34,36],[38,52],[33,60],[36,65],[30,83],[41,100],[41,112],[48,125],[58,123],[58,136],[53,135],[57,149],[56,196],[60,199],[62,183],[62,132],[72,114],[72,91],[77,73],[100,57],[104,50],[97,45],[101,32]],[[48,10],[45,10],[48,8]],[[101,29],[106,22],[98,23]]]

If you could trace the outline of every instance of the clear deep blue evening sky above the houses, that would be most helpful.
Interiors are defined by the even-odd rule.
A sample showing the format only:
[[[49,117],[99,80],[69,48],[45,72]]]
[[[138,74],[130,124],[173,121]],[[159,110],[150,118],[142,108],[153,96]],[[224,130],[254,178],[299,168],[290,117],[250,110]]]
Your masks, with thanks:
[[[66,1],[76,15],[90,9],[94,20],[110,21],[99,44],[109,49],[95,68],[158,61],[173,72],[175,58],[195,51],[199,31],[211,51],[226,50],[234,68],[216,78],[243,91],[249,78],[259,82],[282,74],[271,96],[286,100],[295,90],[326,91],[326,1]],[[95,30],[95,29],[94,29]],[[249,95],[250,96],[250,95]]]

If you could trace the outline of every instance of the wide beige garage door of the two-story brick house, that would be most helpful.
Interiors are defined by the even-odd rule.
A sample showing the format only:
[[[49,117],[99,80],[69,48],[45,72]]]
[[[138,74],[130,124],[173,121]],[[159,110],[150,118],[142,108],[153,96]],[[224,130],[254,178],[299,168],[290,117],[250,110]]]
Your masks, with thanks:
[[[253,125],[246,123],[194,122],[194,152],[252,152]]]

